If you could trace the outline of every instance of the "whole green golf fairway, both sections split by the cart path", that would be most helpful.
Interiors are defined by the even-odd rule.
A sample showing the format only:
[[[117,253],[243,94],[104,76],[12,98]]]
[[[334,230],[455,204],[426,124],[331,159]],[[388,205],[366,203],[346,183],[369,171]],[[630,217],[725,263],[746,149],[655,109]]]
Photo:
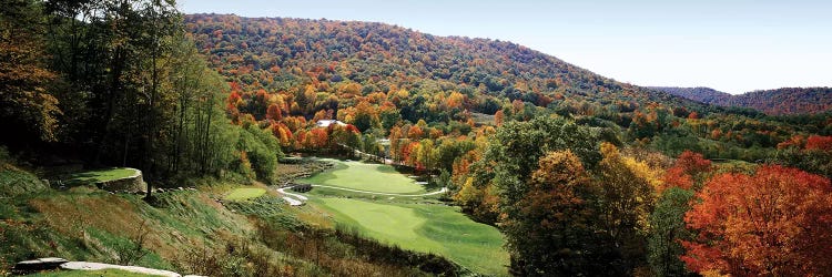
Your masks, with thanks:
[[[405,249],[442,255],[476,274],[508,274],[503,235],[494,226],[476,223],[458,207],[445,205],[438,194],[430,194],[393,166],[321,161],[335,167],[297,183],[324,186],[304,195],[339,227]]]

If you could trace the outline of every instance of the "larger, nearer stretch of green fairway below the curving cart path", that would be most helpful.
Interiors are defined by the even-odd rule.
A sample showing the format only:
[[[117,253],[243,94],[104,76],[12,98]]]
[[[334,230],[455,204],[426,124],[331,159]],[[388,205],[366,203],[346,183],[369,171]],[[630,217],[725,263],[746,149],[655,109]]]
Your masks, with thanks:
[[[435,253],[486,275],[507,275],[503,235],[444,205],[382,204],[348,198],[313,198],[334,219],[372,238],[406,249]]]

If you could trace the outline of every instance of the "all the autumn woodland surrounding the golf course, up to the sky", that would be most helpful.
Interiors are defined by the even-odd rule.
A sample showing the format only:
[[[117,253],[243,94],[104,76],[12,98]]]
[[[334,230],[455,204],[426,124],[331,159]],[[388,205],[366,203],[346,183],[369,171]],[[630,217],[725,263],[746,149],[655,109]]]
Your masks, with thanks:
[[[11,0],[0,158],[40,178],[134,167],[156,205],[154,186],[277,187],[290,157],[367,153],[498,229],[510,275],[832,275],[829,88],[731,96],[590,70],[385,23]],[[26,225],[0,218],[0,235]],[[334,267],[319,275],[351,275]]]

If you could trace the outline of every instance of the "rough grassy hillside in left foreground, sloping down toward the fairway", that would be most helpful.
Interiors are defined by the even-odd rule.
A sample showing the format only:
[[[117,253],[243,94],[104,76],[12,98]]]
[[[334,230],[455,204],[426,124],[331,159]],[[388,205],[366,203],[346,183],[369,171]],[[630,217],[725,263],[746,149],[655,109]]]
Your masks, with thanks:
[[[206,179],[196,188],[156,193],[151,205],[141,195],[85,184],[50,188],[38,177],[0,157],[0,275],[10,274],[18,261],[41,257],[202,276],[466,273],[443,257],[336,228],[324,209],[290,207],[260,184],[240,187]],[[236,196],[252,189],[263,193]],[[72,273],[47,276],[102,276]]]

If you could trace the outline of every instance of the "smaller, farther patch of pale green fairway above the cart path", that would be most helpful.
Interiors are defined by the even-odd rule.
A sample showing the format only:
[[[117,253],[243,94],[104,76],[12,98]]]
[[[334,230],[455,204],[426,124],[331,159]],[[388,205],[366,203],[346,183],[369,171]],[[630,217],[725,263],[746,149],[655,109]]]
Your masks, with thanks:
[[[335,168],[297,182],[378,193],[417,194],[425,192],[424,187],[399,174],[389,165],[343,162],[331,158],[322,161],[335,163]]]

